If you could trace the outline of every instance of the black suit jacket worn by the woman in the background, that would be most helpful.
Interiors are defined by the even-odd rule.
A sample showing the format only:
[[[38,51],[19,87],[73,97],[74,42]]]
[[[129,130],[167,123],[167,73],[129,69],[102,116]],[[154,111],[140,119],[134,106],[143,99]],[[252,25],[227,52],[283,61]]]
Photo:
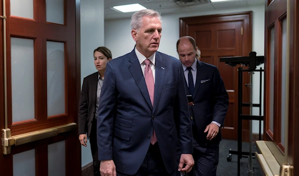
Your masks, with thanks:
[[[92,120],[95,115],[99,72],[93,73],[83,79],[79,102],[79,135],[90,135]]]

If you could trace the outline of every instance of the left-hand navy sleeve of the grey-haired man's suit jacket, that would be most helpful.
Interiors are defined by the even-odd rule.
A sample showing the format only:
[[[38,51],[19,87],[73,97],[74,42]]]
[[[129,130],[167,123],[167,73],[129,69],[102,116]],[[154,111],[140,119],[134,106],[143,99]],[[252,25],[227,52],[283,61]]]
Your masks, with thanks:
[[[114,110],[116,104],[116,76],[108,62],[101,90],[97,121],[97,143],[99,161],[113,159]]]

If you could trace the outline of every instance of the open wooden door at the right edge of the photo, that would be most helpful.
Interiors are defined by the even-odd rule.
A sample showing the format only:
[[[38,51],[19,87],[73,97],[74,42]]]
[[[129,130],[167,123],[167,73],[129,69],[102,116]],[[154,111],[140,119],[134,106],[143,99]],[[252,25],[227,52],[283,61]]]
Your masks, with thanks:
[[[265,14],[264,139],[272,142],[268,147],[282,168],[290,164],[291,176],[298,176],[298,0],[265,0]]]

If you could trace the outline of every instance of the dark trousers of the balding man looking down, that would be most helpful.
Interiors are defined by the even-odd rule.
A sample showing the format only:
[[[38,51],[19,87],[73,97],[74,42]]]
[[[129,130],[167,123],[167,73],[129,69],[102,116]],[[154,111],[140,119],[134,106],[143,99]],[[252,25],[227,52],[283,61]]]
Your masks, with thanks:
[[[201,147],[193,144],[194,166],[188,176],[216,176],[219,160],[219,145]]]

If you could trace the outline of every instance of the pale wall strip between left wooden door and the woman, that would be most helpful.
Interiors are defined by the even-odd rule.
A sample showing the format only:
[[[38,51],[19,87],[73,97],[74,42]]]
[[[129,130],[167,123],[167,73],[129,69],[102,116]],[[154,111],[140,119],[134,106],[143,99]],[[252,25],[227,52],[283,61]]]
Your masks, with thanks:
[[[84,77],[96,72],[93,51],[104,46],[104,0],[81,0],[81,87]],[[82,167],[92,162],[90,143],[82,146]]]

